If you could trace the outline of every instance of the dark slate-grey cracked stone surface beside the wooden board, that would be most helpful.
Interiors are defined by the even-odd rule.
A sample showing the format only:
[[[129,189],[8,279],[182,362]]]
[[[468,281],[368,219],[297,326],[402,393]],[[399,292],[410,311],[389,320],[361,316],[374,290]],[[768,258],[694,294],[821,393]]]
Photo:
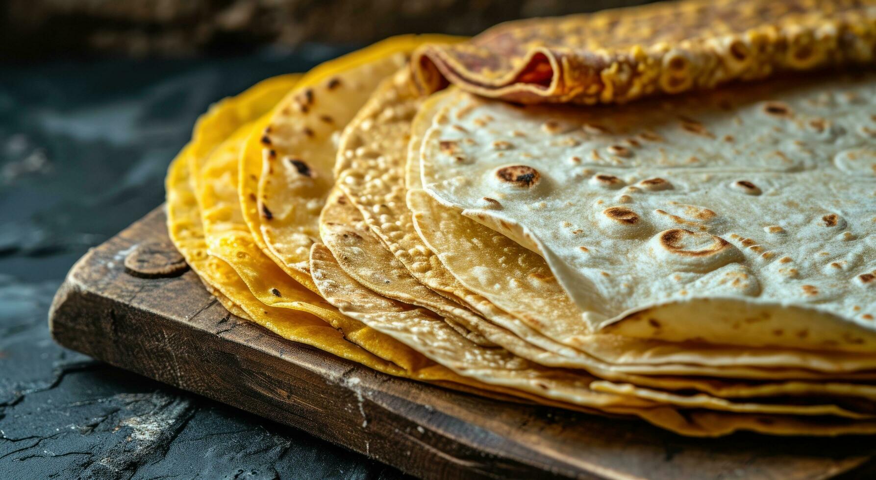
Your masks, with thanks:
[[[210,102],[337,53],[0,65],[0,477],[401,476],[63,349],[46,324],[74,261],[163,201]]]

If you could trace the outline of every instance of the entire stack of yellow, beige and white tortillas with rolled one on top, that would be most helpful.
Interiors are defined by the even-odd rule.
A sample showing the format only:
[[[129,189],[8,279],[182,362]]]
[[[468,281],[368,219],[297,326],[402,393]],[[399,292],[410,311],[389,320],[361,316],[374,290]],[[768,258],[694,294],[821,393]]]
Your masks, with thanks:
[[[387,374],[688,435],[874,434],[874,5],[388,39],[215,104],[170,234],[230,312]]]

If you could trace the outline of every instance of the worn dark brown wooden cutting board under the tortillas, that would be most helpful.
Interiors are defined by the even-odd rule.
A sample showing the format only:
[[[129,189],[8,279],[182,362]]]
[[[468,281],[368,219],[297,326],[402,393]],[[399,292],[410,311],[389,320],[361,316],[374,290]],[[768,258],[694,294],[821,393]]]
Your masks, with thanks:
[[[57,342],[424,477],[876,476],[872,437],[690,439],[637,420],[519,405],[393,378],[241,320],[167,239],[163,208],[74,265]]]

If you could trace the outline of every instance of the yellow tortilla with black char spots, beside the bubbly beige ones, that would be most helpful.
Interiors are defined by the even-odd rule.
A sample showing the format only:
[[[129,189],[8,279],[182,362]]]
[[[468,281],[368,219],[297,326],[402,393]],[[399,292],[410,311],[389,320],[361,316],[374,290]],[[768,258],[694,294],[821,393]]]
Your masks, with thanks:
[[[319,239],[319,213],[333,184],[334,135],[416,46],[456,40],[399,36],[323,63],[253,129],[240,156],[244,220],[258,247],[301,285],[315,291],[307,255]]]

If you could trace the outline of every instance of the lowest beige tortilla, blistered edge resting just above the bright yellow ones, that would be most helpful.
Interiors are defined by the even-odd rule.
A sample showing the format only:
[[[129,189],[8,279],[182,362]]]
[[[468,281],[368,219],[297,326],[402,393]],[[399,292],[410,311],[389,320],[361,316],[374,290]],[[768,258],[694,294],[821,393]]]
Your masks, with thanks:
[[[876,431],[876,422],[869,420],[850,422],[818,417],[818,420],[808,421],[788,415],[710,413],[703,410],[691,410],[682,416],[669,406],[642,403],[646,402],[644,399],[600,394],[589,388],[594,378],[558,370],[545,371],[504,349],[480,347],[467,341],[429,310],[412,308],[357,284],[343,272],[325,245],[314,244],[311,248],[310,268],[322,295],[344,314],[392,335],[461,375],[487,384],[512,387],[546,399],[607,413],[636,415],[659,427],[692,436],[731,434],[738,429],[815,435]]]

